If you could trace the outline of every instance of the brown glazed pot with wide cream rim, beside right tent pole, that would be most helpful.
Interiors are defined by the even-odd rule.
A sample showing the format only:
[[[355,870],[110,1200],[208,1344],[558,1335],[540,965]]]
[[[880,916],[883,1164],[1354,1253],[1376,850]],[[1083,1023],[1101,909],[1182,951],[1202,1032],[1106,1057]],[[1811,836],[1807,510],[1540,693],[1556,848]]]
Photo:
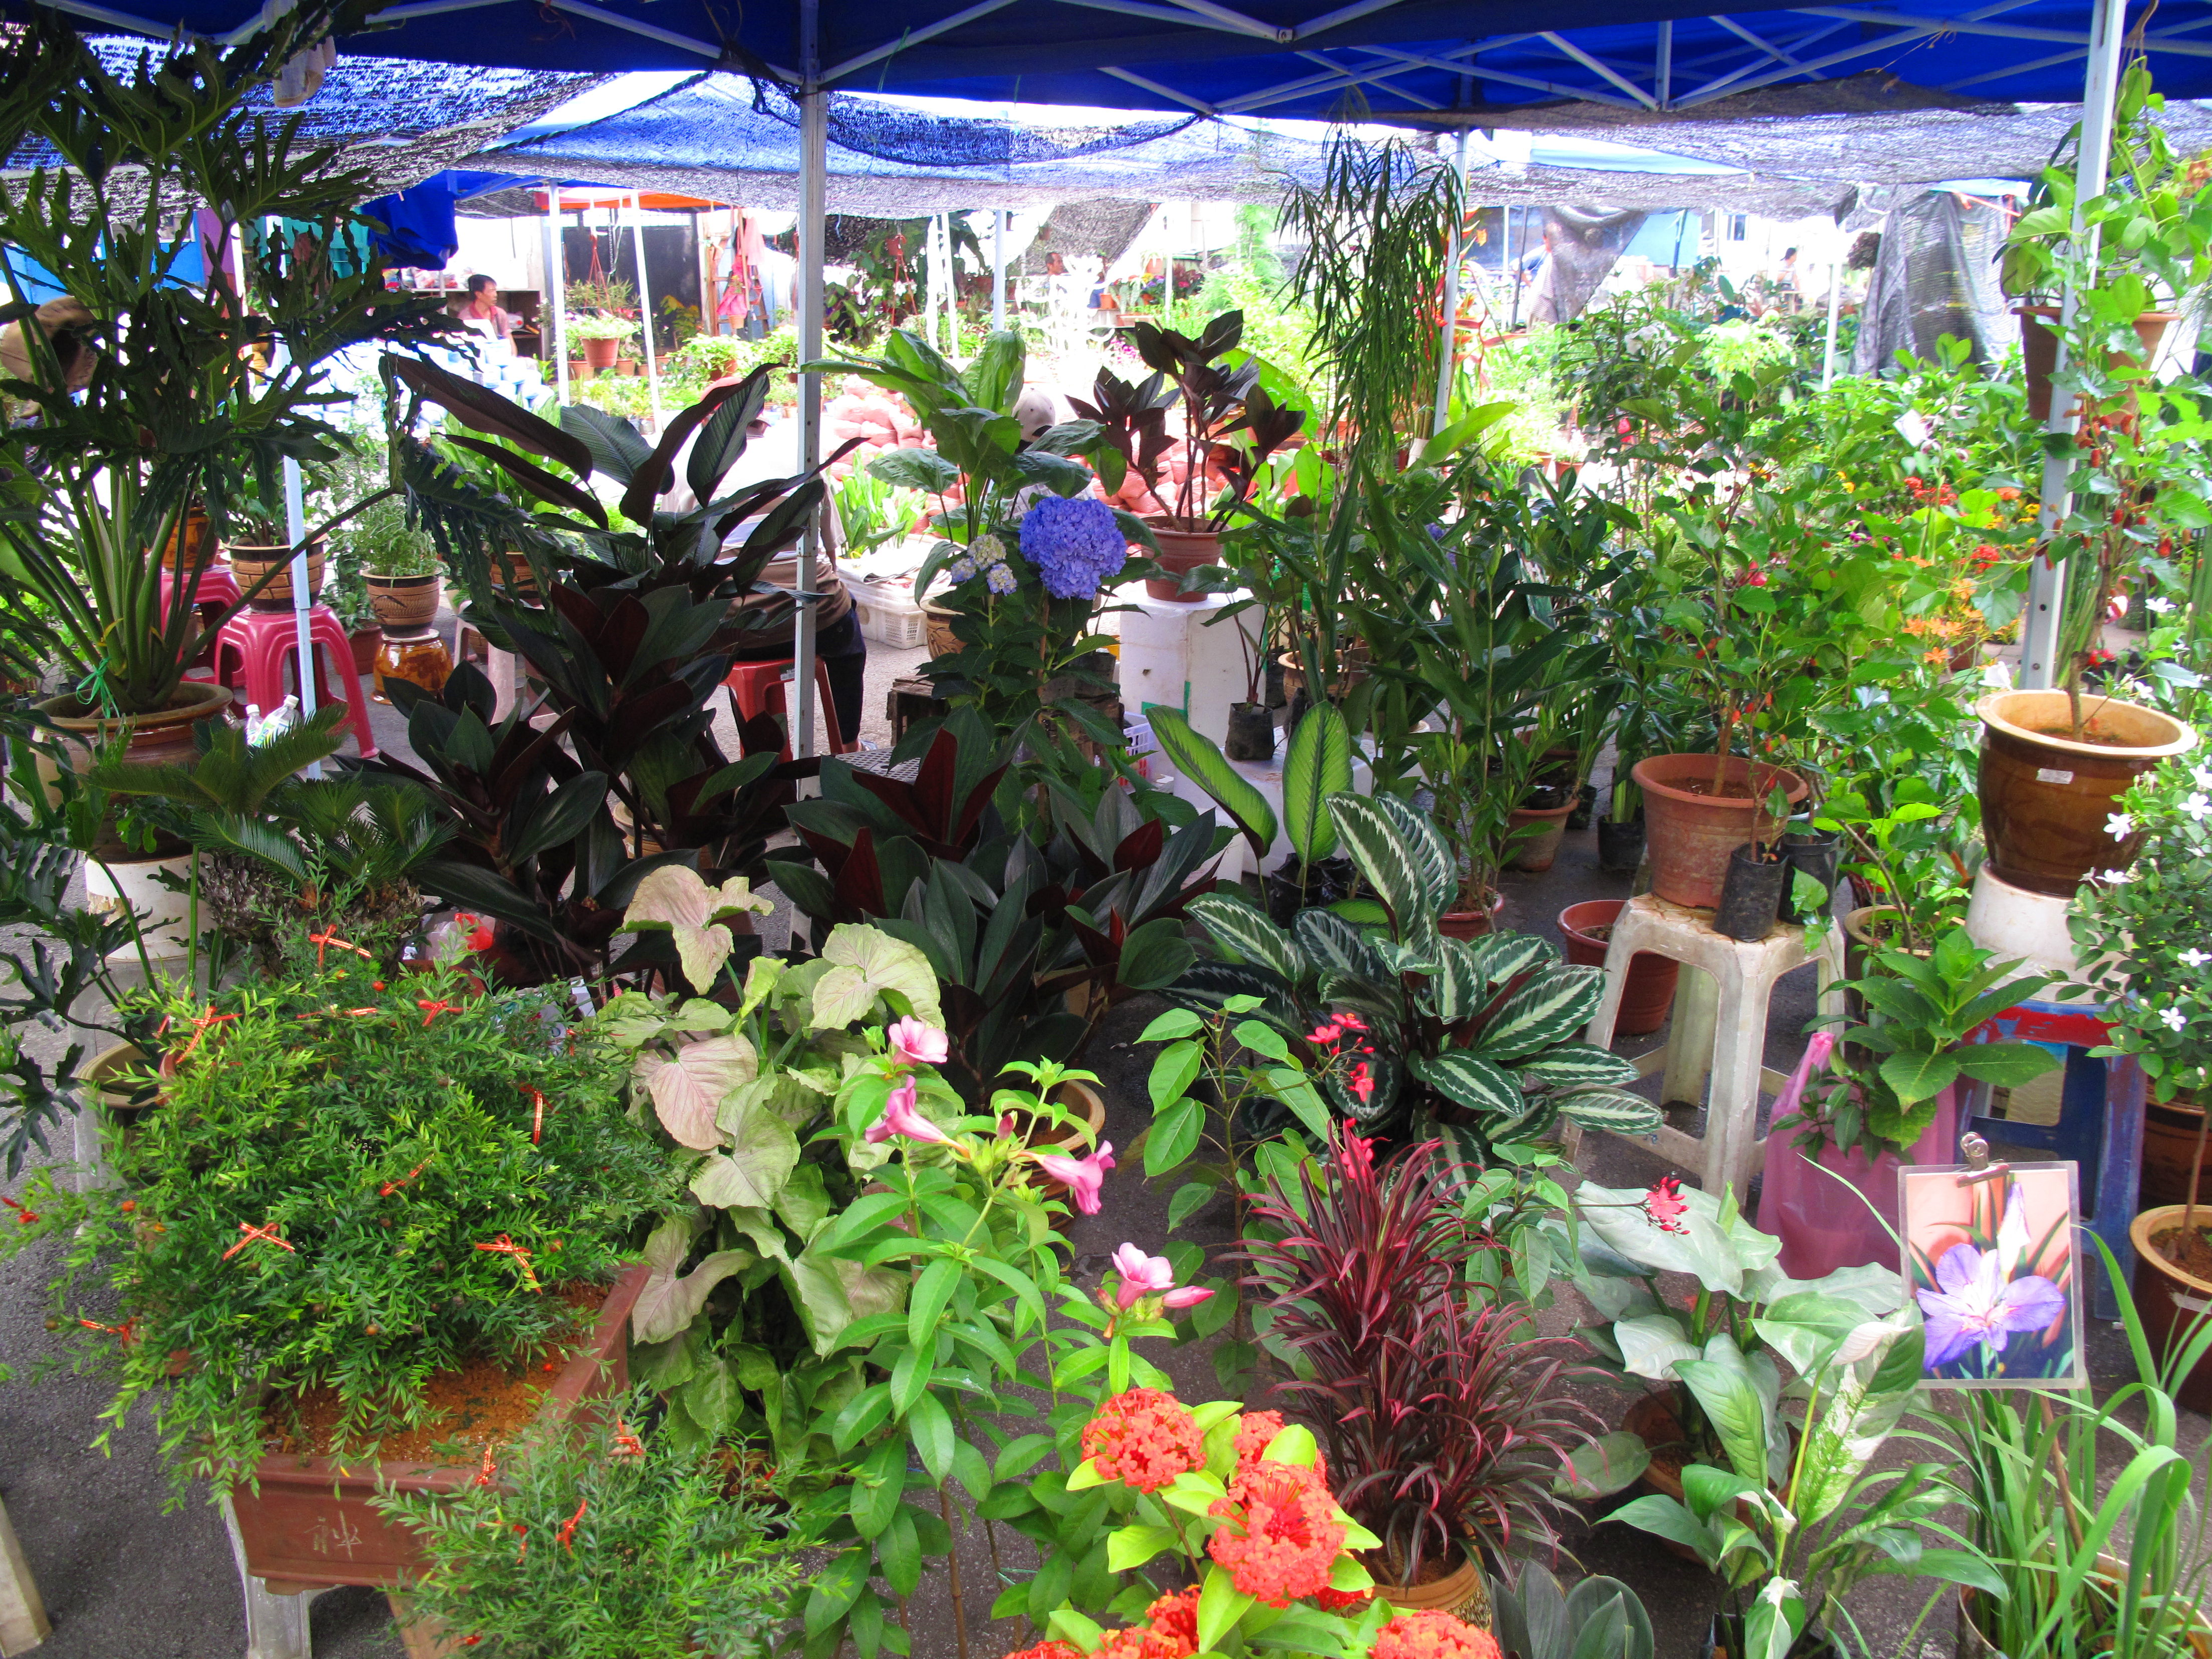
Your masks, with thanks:
[[[1991,692],[1982,717],[1982,836],[1989,869],[2031,894],[2073,898],[2090,869],[2126,869],[2141,836],[2115,838],[2117,799],[2197,732],[2154,708],[2081,699],[2081,741],[2064,690]]]

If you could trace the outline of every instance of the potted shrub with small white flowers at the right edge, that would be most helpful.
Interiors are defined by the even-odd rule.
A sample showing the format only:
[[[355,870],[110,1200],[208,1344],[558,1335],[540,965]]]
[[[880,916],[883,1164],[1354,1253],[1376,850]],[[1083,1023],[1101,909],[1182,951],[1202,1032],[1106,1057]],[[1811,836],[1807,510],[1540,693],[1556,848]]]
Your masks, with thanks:
[[[2066,914],[2081,982],[2112,1026],[2099,1055],[2132,1055],[2150,1084],[2137,1201],[2146,1210],[2199,1197],[2212,1082],[2212,827],[2203,823],[2212,768],[2166,761],[2117,805],[2143,852],[2128,869],[2093,874]],[[2203,1190],[2212,1197],[2212,1188]],[[2172,1217],[2168,1217],[2172,1219]]]

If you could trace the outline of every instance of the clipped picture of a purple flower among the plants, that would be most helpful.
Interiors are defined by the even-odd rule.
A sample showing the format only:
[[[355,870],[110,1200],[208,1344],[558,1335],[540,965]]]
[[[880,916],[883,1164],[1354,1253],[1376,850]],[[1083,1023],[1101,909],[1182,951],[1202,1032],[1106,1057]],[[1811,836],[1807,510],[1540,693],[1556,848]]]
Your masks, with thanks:
[[[1997,1166],[2002,1168],[2002,1166]],[[1898,1172],[1931,1389],[2086,1387],[2075,1164]]]

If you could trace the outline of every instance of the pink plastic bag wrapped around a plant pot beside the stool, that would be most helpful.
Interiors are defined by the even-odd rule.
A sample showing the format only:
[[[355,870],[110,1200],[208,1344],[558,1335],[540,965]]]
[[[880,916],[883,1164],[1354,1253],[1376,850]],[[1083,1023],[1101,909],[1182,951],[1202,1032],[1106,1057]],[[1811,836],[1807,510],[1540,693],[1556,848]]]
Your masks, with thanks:
[[[1958,1099],[1955,1091],[1944,1088],[1936,1097],[1936,1121],[1913,1144],[1911,1157],[1896,1152],[1867,1157],[1865,1146],[1854,1146],[1849,1152],[1823,1146],[1818,1159],[1807,1159],[1796,1148],[1796,1137],[1805,1128],[1798,1102],[1834,1048],[1836,1040],[1825,1031],[1805,1044],[1805,1057],[1774,1102],[1774,1121],[1767,1128],[1767,1177],[1759,1194],[1759,1225],[1781,1237],[1778,1265],[1792,1279],[1823,1279],[1838,1267],[1871,1263],[1896,1267],[1898,1241],[1882,1223],[1898,1225],[1898,1170],[1905,1164],[1949,1164],[1958,1141]],[[1818,1170],[1814,1161],[1820,1164]],[[1874,1212],[1845,1192],[1845,1183],[1863,1192]]]

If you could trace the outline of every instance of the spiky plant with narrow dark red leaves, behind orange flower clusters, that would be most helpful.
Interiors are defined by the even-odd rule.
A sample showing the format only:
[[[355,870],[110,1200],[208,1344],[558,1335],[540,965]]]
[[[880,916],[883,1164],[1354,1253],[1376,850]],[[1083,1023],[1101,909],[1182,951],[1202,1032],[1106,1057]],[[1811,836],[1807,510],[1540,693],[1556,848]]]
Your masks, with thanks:
[[[1471,1307],[1491,1250],[1462,1214],[1471,1172],[1422,1141],[1376,1164],[1340,1126],[1325,1179],[1267,1179],[1243,1248],[1267,1296],[1265,1345],[1294,1371],[1290,1409],[1329,1449],[1345,1511],[1383,1542],[1374,1566],[1416,1584],[1453,1553],[1506,1559],[1559,1542],[1553,1484],[1601,1427],[1562,1396],[1566,1360],[1522,1334],[1526,1312]]]

